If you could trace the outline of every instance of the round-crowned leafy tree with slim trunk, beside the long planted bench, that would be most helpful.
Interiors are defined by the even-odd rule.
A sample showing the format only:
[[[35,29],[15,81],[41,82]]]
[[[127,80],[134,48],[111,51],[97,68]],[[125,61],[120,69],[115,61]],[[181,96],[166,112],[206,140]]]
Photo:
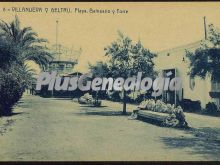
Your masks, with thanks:
[[[137,75],[138,72],[142,72],[143,76],[154,77],[156,72],[153,58],[156,54],[144,48],[140,41],[133,44],[129,37],[121,32],[118,34],[118,40],[104,48],[106,56],[110,57],[109,68],[113,78],[126,79]],[[123,90],[123,114],[126,114],[126,97],[127,92]]]

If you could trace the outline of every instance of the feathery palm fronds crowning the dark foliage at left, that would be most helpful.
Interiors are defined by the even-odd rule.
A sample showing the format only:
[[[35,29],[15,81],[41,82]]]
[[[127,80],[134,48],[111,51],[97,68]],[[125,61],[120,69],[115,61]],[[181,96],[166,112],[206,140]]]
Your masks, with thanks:
[[[22,65],[25,61],[32,60],[44,69],[52,60],[48,48],[43,45],[47,40],[38,38],[38,34],[31,27],[21,28],[17,16],[10,23],[0,20],[0,38],[17,48],[16,61]]]

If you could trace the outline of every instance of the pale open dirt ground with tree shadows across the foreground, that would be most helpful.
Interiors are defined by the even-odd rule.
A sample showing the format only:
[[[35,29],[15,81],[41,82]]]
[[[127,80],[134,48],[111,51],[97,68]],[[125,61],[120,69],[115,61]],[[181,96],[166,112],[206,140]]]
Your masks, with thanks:
[[[128,120],[121,108],[24,96],[0,118],[0,160],[220,160],[220,118],[186,113],[192,129],[179,130]]]

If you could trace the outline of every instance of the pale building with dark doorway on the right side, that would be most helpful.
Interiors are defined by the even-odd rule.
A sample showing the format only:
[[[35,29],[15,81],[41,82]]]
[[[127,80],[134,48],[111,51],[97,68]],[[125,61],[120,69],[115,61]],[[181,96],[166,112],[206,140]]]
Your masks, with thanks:
[[[162,99],[165,102],[179,102],[183,99],[200,101],[204,108],[208,102],[215,102],[219,107],[220,103],[220,83],[211,82],[210,77],[201,80],[199,77],[191,78],[189,72],[189,60],[186,57],[186,50],[194,52],[201,47],[202,41],[158,52],[155,58],[155,68],[162,74],[171,71],[173,76],[181,77],[182,89],[170,92],[164,91]]]

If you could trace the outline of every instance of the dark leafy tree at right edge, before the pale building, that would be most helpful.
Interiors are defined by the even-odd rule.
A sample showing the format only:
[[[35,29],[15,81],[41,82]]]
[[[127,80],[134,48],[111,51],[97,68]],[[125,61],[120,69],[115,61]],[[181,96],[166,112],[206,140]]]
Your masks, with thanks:
[[[208,40],[195,52],[186,52],[190,61],[189,75],[205,79],[210,76],[214,82],[220,82],[220,31],[209,25]]]

